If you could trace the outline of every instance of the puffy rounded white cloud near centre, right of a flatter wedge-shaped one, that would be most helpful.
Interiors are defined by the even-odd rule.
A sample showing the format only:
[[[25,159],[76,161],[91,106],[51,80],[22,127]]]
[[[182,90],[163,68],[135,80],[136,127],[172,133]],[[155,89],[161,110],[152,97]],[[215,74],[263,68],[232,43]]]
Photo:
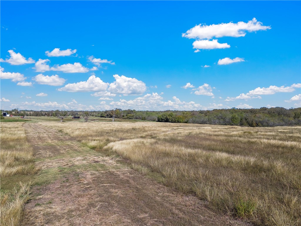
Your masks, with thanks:
[[[119,76],[118,74],[113,75],[113,77],[116,81],[110,83],[108,88],[108,91],[111,93],[139,95],[146,90],[145,83],[135,78],[125,77],[124,75]]]

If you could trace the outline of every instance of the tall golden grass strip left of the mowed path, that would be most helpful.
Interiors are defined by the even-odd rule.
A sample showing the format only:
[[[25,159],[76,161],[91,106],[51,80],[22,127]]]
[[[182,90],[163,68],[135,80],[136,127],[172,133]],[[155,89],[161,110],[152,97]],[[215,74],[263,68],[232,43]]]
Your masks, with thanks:
[[[27,143],[25,129],[22,122],[1,123],[1,152],[0,152],[0,176],[8,178],[19,174],[35,174],[37,169],[33,163],[33,149]],[[23,218],[24,204],[29,200],[30,182],[15,183],[10,185],[13,189],[4,191],[1,189],[1,225],[20,225]]]

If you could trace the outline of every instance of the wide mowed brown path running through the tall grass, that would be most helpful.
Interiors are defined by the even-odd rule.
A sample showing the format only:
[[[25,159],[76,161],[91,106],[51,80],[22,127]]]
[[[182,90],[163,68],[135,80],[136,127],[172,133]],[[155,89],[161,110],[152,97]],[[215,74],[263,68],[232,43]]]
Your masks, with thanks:
[[[33,188],[22,225],[249,225],[38,123],[24,124],[49,183]],[[51,177],[52,174],[59,175]],[[47,177],[46,177],[47,178]]]

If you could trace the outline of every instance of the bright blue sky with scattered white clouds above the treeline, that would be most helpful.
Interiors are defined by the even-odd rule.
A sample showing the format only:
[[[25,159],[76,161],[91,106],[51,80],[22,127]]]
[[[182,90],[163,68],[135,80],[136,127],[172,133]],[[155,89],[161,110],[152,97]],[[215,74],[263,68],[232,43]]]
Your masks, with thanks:
[[[1,1],[1,109],[301,107],[300,1]]]

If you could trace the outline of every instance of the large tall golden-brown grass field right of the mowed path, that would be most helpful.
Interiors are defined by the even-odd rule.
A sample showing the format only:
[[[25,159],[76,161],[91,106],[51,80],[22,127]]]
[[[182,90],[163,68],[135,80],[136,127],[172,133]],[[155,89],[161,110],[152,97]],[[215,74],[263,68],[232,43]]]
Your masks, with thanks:
[[[301,224],[300,127],[40,122],[256,225]]]

